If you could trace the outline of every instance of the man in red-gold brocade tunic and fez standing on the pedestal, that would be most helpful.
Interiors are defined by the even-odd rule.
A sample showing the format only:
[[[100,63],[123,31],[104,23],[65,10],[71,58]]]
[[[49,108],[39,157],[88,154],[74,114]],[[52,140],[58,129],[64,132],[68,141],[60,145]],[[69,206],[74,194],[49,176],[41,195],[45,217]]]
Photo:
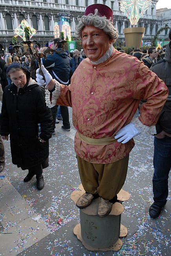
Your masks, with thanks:
[[[45,81],[38,69],[37,82],[50,90],[46,91],[48,106],[72,107],[77,130],[74,148],[86,191],[77,207],[85,208],[100,197],[97,215],[105,217],[125,182],[132,138],[141,132],[155,134],[167,87],[137,58],[113,47],[118,35],[108,6],[88,6],[76,36],[82,39],[87,58],[75,70],[71,84],[59,84],[43,66]],[[147,102],[133,119],[140,99]]]

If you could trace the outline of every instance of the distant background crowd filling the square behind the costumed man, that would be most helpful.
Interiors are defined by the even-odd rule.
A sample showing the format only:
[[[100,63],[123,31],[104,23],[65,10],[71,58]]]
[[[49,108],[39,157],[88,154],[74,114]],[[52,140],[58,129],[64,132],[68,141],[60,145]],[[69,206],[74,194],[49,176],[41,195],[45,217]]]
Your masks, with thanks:
[[[52,45],[52,47],[53,47],[53,45]],[[41,49],[43,50],[43,48],[40,48],[40,50]],[[166,49],[166,45],[156,47],[156,48],[155,47],[150,47],[150,48],[143,47],[142,49],[141,48],[137,48],[137,49],[133,48],[131,50],[131,52],[129,52],[128,54],[136,57],[140,61],[143,61],[144,64],[150,68],[154,63],[156,63],[157,61],[160,61],[161,59],[164,58],[165,49]],[[120,47],[116,48],[116,50],[118,50],[119,52],[125,53],[125,50],[122,50]],[[69,62],[70,62],[70,76],[69,76],[69,83],[70,83],[70,79],[71,79],[72,75],[74,74],[75,69],[78,67],[79,63],[83,59],[86,58],[86,55],[85,55],[85,51],[83,49],[82,50],[75,49],[72,52],[68,52],[66,50],[65,52],[66,52]],[[2,90],[4,90],[4,87],[7,84],[10,84],[10,82],[11,82],[11,80],[6,76],[7,67],[11,63],[20,63],[21,65],[26,67],[26,69],[28,69],[31,72],[31,77],[33,77],[33,78],[36,77],[37,67],[35,65],[35,61],[33,60],[33,58],[31,56],[18,57],[15,55],[15,53],[1,54],[0,68],[2,69],[2,73],[0,74],[0,78],[1,78],[0,84],[2,86]]]

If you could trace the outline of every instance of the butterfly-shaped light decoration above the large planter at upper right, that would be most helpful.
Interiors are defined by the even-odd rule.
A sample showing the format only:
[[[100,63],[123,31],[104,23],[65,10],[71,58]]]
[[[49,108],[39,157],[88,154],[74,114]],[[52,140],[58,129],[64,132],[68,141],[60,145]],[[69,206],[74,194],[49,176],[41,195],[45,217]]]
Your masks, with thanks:
[[[135,26],[151,2],[152,0],[122,0],[120,10],[125,13],[131,25]]]

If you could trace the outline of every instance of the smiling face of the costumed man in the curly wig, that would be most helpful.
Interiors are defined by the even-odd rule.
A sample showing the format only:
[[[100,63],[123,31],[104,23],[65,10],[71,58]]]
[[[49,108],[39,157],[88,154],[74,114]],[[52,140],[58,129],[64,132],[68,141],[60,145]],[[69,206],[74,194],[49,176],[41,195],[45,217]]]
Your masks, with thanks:
[[[97,61],[107,52],[112,40],[101,29],[85,26],[82,30],[82,45],[90,61]]]

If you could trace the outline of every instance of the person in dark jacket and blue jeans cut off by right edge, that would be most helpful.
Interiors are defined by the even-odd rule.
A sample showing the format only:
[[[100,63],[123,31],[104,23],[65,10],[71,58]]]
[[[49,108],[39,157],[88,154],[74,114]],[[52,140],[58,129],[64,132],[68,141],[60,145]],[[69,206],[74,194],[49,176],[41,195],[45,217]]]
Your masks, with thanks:
[[[169,32],[171,39],[171,29]],[[166,46],[164,59],[154,64],[150,70],[161,78],[169,89],[169,95],[156,124],[154,137],[153,200],[149,215],[156,219],[164,208],[168,197],[168,178],[171,169],[171,41]]]

